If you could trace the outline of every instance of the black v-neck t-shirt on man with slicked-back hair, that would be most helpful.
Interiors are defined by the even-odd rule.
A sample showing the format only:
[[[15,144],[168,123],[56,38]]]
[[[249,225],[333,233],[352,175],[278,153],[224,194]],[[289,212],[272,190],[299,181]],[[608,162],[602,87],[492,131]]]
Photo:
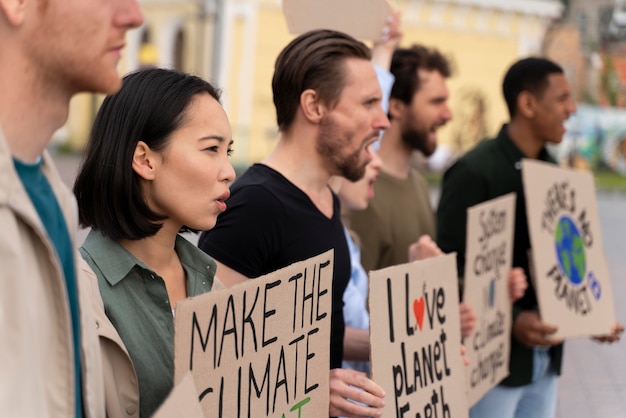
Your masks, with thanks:
[[[343,358],[343,292],[350,280],[350,253],[333,194],[327,218],[311,199],[282,174],[254,164],[231,187],[228,209],[198,246],[211,257],[247,276],[259,277],[333,248],[333,297],[330,367]]]

